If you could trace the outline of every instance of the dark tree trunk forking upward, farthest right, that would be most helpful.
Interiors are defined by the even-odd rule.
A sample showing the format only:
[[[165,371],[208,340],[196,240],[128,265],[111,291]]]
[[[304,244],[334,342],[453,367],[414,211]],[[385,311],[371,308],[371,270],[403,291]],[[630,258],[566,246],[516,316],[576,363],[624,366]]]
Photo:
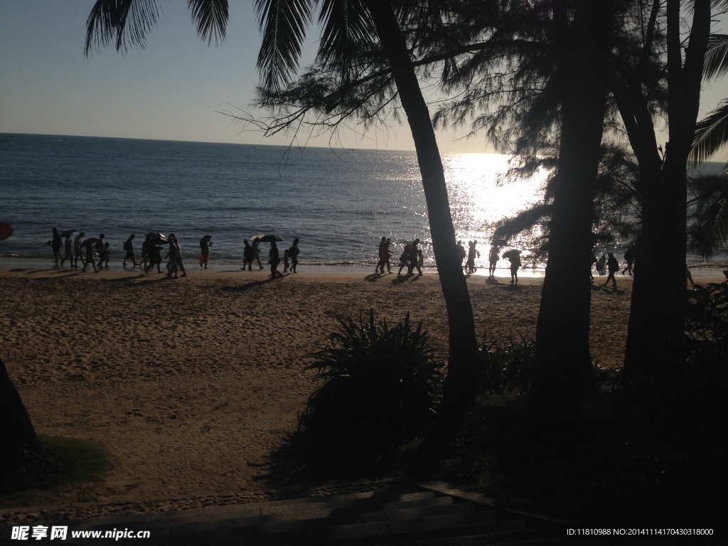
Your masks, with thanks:
[[[672,366],[685,363],[687,158],[700,107],[710,0],[695,1],[685,49],[680,1],[668,0],[667,14],[669,142],[662,168],[642,169],[642,232],[637,240],[625,352],[625,378],[642,389],[670,376],[665,372]]]

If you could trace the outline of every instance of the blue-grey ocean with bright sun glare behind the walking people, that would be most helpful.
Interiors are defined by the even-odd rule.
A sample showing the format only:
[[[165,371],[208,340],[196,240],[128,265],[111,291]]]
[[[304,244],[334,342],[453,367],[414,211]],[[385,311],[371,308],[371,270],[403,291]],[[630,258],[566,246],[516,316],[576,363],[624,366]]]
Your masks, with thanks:
[[[466,248],[479,241],[479,273],[488,268],[494,223],[542,189],[543,176],[502,182],[507,162],[499,154],[443,154],[456,236]],[[395,258],[419,238],[425,266],[435,266],[414,151],[4,134],[0,222],[14,229],[0,241],[0,266],[52,266],[53,227],[103,232],[119,268],[124,240],[135,234],[139,255],[147,232],[174,232],[191,264],[199,240],[212,235],[213,269],[241,264],[243,240],[257,233],[280,235],[281,253],[298,237],[301,271],[373,268],[382,236]],[[529,240],[510,245],[529,253]],[[544,264],[526,264],[524,273],[542,274]],[[506,274],[507,261],[499,266]]]

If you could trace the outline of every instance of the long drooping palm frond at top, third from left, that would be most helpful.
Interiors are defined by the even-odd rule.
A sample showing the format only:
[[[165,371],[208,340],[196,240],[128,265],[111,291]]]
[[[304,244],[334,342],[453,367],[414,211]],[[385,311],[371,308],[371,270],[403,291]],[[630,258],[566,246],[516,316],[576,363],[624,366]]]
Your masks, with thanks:
[[[278,91],[291,81],[312,9],[312,0],[256,0],[258,27],[263,34],[257,66],[264,88]]]

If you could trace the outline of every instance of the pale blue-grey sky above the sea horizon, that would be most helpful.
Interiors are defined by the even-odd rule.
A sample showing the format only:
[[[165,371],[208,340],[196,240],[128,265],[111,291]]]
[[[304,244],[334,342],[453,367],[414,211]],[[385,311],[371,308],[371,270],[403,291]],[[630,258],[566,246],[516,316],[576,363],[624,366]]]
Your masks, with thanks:
[[[95,0],[0,0],[0,132],[412,150],[408,126],[361,135],[355,129],[307,140],[265,138],[220,111],[248,108],[258,84],[260,33],[252,0],[230,2],[226,41],[197,36],[185,0],[158,0],[162,15],[146,48],[113,47],[84,57]],[[728,29],[722,28],[722,31]],[[316,31],[312,29],[312,34]],[[304,44],[304,65],[317,43]],[[701,114],[728,97],[724,81],[705,88]],[[258,114],[264,114],[258,112]],[[490,152],[485,137],[438,132],[443,152]]]

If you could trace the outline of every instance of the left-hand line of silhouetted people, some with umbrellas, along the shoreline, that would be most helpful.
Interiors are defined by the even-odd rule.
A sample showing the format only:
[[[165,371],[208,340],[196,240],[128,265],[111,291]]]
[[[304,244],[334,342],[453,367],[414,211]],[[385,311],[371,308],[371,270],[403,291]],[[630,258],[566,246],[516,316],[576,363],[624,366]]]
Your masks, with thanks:
[[[75,237],[74,237],[75,236]],[[71,237],[74,237],[71,240]],[[85,239],[84,232],[76,232],[75,230],[69,230],[68,232],[60,233],[58,228],[52,229],[52,240],[48,241],[48,245],[53,249],[53,257],[55,258],[55,264],[63,266],[66,260],[69,261],[71,267],[78,267],[79,261],[83,265],[82,271],[86,271],[87,266],[92,266],[94,272],[98,273],[100,269],[108,269],[108,260],[111,256],[109,250],[109,244],[106,242],[105,235],[102,233],[98,237],[90,237]],[[64,248],[65,238],[65,248]],[[182,248],[175,234],[170,234],[169,237],[165,237],[159,233],[147,234],[146,239],[142,243],[141,248],[141,260],[136,261],[136,255],[134,252],[134,239],[135,235],[131,234],[127,240],[124,241],[124,260],[122,266],[127,266],[127,261],[131,261],[132,269],[143,267],[145,273],[149,273],[154,267],[157,267],[157,272],[162,272],[162,251],[165,245],[168,245],[168,251],[164,259],[167,260],[167,277],[176,279],[179,276],[186,277],[187,273],[184,269],[184,262],[182,260]],[[283,273],[289,271],[296,273],[296,266],[298,266],[298,238],[293,240],[293,245],[285,250],[283,255],[284,268]],[[261,264],[260,254],[260,240],[258,237],[253,239],[251,245],[248,240],[245,240],[245,248],[243,249],[243,264],[242,269],[245,270],[245,266],[248,266],[248,271],[253,269],[253,261],[258,263],[259,269],[263,269]],[[213,246],[212,236],[205,235],[199,241],[199,266],[203,269],[207,269],[207,265],[210,263],[210,248]],[[61,251],[65,250],[65,255]],[[98,261],[97,261],[98,260]],[[278,271],[278,265],[281,262],[280,254],[277,248],[276,242],[271,242],[271,248],[269,251],[269,261],[271,266],[271,278],[282,277],[282,273]],[[181,275],[178,274],[181,272]]]

